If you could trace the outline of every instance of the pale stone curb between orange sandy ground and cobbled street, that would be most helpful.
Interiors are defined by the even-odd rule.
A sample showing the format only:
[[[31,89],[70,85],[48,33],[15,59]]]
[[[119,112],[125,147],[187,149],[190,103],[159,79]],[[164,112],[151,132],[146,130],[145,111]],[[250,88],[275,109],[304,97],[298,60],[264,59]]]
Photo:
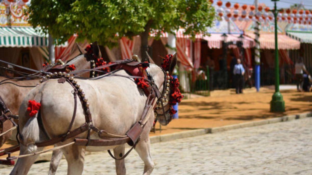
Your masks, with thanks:
[[[176,140],[176,139],[183,139],[187,137],[194,137],[194,136],[204,135],[204,134],[213,134],[213,133],[218,133],[218,132],[223,132],[223,131],[233,130],[233,129],[238,129],[238,128],[260,126],[260,125],[266,125],[266,124],[278,123],[278,122],[284,122],[284,121],[292,121],[292,120],[302,119],[302,118],[311,117],[311,116],[312,116],[312,111],[297,114],[297,115],[288,115],[288,116],[276,117],[276,118],[260,120],[260,121],[251,121],[251,122],[239,123],[239,124],[234,124],[234,125],[226,125],[226,126],[204,128],[204,129],[195,129],[195,130],[182,131],[182,132],[177,132],[177,133],[172,133],[172,134],[156,135],[156,136],[150,137],[149,139],[150,139],[151,144],[153,144],[153,143],[171,141],[171,140]],[[96,154],[96,153],[86,151],[85,154],[89,155],[89,154]],[[50,160],[51,160],[51,152],[40,154],[36,161],[50,161]],[[10,167],[10,166],[0,165],[0,168],[7,168],[7,167]]]

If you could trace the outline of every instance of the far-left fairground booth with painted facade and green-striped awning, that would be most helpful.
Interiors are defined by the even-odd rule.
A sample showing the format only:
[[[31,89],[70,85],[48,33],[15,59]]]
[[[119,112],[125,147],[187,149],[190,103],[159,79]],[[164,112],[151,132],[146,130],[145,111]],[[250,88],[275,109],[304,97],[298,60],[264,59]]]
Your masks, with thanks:
[[[20,1],[0,2],[0,59],[40,70],[42,64],[49,61],[48,36],[39,32],[40,27],[30,26],[24,13],[26,9],[27,5]],[[73,35],[65,44],[56,46],[55,59],[66,61],[77,56],[75,40],[76,35]]]

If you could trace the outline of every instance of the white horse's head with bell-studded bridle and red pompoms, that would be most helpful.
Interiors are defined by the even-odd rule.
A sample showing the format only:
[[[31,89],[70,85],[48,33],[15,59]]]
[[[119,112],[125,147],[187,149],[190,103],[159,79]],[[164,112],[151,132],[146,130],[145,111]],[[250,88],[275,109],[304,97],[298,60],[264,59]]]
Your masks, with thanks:
[[[157,101],[157,107],[154,110],[155,115],[157,115],[157,120],[161,125],[167,125],[171,121],[173,113],[175,113],[172,105],[175,102],[175,99],[173,99],[173,92],[176,91],[176,86],[174,85],[176,79],[174,79],[171,75],[176,64],[176,55],[167,55],[167,57],[164,58],[164,62],[161,67],[155,65],[151,66],[150,69],[147,70],[152,75],[154,82],[161,93],[161,97],[158,98]]]

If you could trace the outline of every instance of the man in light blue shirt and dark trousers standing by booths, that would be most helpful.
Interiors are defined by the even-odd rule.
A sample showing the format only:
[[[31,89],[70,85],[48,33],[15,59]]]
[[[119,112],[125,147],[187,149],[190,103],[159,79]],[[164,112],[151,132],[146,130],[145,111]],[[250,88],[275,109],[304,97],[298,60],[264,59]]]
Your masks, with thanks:
[[[233,82],[235,82],[236,87],[236,93],[243,93],[242,89],[244,86],[244,73],[245,69],[243,65],[241,64],[241,59],[237,59],[237,64],[235,64],[233,69],[234,79]]]

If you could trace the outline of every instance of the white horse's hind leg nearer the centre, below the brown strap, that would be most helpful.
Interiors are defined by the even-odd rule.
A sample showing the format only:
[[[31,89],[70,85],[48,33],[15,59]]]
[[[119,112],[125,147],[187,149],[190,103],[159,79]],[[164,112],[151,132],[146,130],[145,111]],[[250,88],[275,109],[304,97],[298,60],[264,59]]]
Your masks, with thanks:
[[[62,148],[62,152],[68,164],[67,175],[82,174],[85,163],[85,146],[66,146]]]

